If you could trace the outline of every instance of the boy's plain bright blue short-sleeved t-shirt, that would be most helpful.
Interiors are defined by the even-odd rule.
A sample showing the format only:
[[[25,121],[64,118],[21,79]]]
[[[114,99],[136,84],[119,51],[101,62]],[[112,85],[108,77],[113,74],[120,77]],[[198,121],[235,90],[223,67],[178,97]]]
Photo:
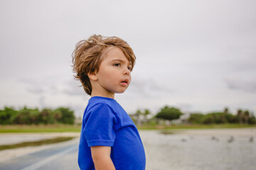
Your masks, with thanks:
[[[110,157],[117,170],[144,170],[146,157],[139,132],[129,115],[112,98],[90,98],[82,118],[78,164],[92,170],[90,147],[111,147]]]

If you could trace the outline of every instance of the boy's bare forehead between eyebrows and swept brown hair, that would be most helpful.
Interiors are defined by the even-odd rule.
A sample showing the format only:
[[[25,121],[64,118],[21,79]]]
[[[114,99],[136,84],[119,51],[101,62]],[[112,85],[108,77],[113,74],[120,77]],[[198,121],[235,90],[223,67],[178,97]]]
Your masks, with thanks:
[[[127,58],[124,55],[124,52],[121,49],[119,49],[119,47],[107,47],[105,51],[102,53],[102,57],[102,62],[112,60],[123,60],[124,62],[131,63],[131,61],[129,61],[129,58]]]

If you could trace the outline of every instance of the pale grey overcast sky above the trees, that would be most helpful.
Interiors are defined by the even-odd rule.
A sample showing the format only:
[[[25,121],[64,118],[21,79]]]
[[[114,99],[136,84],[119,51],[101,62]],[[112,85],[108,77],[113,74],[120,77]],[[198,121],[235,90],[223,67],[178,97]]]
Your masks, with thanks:
[[[127,113],[165,105],[186,112],[256,113],[256,1],[0,0],[0,108],[73,108],[87,96],[71,54],[90,35],[134,49]]]

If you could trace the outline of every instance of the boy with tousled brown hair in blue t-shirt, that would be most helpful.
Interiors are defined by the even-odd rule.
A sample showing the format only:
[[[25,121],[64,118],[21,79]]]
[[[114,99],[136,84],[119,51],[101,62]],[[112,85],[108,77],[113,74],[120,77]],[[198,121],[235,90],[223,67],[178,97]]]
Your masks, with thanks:
[[[114,100],[131,82],[136,57],[117,37],[92,35],[78,42],[73,71],[91,96],[82,118],[78,164],[84,170],[144,170],[146,157],[139,132]]]

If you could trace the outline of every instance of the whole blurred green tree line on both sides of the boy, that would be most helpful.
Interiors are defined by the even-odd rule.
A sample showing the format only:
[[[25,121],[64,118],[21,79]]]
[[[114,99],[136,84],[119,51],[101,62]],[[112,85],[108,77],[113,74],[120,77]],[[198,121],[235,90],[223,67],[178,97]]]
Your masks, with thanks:
[[[136,113],[130,115],[134,123],[141,125],[142,123],[159,123],[159,120],[177,120],[183,115],[182,111],[178,108],[164,106],[156,115],[151,116],[149,109],[144,111],[137,110]],[[188,118],[181,121],[182,123],[190,124],[220,124],[220,123],[240,123],[245,125],[256,124],[255,115],[249,111],[237,111],[232,114],[225,108],[222,112],[213,112],[208,114],[191,113]],[[73,125],[75,123],[74,111],[70,108],[26,108],[20,110],[5,107],[0,110],[0,125],[39,125],[39,124],[55,124],[63,123]]]

